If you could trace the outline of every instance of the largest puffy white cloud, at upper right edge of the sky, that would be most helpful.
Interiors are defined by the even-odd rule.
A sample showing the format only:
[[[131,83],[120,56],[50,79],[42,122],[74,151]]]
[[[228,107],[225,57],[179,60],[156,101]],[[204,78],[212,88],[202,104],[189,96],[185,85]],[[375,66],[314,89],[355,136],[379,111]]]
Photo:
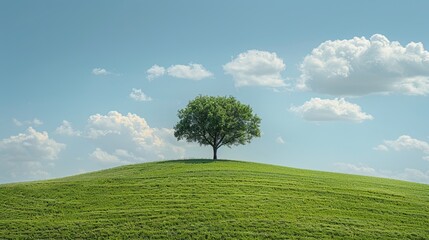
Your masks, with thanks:
[[[326,41],[304,58],[298,89],[331,95],[429,93],[429,52],[422,43],[402,46],[381,34]]]

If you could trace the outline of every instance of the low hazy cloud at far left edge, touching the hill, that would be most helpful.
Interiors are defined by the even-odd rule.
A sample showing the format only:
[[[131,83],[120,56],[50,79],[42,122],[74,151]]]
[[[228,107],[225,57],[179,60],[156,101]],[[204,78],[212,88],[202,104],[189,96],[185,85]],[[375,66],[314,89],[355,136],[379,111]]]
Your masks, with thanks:
[[[29,127],[25,133],[0,141],[0,175],[17,180],[46,178],[46,169],[64,148],[65,144],[49,138],[47,132]]]

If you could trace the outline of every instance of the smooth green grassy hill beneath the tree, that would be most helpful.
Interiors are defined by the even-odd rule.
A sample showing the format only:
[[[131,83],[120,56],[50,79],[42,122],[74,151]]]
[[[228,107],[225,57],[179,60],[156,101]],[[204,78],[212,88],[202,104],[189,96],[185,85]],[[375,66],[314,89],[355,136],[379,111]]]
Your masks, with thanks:
[[[238,161],[0,185],[0,239],[429,239],[429,185]]]

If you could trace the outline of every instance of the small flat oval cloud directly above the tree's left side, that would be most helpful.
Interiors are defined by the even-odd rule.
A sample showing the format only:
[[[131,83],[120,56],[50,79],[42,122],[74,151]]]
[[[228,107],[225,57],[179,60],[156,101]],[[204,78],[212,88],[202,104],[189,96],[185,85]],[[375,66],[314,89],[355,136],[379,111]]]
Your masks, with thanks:
[[[191,63],[189,65],[172,65],[167,69],[168,75],[176,78],[201,80],[213,76],[203,65]]]

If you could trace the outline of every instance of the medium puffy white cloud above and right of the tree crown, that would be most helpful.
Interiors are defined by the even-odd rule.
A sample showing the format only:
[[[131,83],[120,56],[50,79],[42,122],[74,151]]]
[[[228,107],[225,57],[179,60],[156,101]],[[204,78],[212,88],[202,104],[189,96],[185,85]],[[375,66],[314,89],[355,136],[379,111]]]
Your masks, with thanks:
[[[248,50],[225,64],[226,74],[232,75],[235,86],[285,87],[281,72],[286,68],[276,53]]]

